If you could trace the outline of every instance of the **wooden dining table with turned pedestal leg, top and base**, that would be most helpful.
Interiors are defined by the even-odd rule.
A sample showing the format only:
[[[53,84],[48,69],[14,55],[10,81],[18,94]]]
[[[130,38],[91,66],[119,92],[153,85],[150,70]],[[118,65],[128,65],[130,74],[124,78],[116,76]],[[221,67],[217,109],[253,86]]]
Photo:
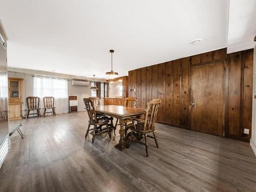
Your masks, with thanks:
[[[125,123],[131,121],[131,117],[140,117],[145,114],[145,109],[141,108],[132,108],[129,106],[120,106],[120,105],[100,105],[97,106],[95,111],[100,114],[107,116],[115,117],[119,119],[120,122],[120,140],[117,145],[115,145],[118,150],[123,151],[126,148],[126,140],[124,138],[124,129],[123,126]]]

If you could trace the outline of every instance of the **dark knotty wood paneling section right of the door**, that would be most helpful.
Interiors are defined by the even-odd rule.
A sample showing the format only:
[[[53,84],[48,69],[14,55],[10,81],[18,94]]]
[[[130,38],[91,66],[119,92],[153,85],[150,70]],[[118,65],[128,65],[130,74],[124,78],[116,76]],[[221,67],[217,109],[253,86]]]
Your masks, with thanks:
[[[251,138],[253,49],[228,54],[228,137]],[[249,135],[244,134],[249,129]]]

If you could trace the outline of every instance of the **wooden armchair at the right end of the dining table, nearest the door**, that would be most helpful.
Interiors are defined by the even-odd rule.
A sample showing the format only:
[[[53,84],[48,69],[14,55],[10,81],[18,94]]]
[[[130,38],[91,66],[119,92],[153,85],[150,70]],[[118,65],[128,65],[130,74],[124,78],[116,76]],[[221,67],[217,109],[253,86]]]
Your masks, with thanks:
[[[129,127],[129,129],[131,130],[131,135],[129,137],[129,143],[127,144],[127,148],[129,148],[132,142],[144,144],[146,146],[146,156],[148,157],[147,137],[154,138],[157,148],[159,147],[155,133],[155,120],[157,117],[160,102],[160,99],[152,99],[151,101],[147,102],[144,120],[131,118],[131,120],[137,121],[137,124],[131,123],[127,125],[127,127]],[[149,133],[153,133],[154,137],[147,135]],[[145,143],[142,142],[143,140],[145,140]]]

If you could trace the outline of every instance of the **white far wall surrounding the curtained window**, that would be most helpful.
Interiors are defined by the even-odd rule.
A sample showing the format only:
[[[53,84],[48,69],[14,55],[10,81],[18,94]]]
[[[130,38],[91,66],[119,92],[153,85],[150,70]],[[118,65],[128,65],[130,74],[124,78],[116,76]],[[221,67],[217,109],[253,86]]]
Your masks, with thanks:
[[[40,75],[52,75],[57,77],[63,77],[63,78],[70,78],[70,75],[66,74],[58,74],[51,72],[44,72],[44,71],[32,71],[31,73],[29,71],[31,70],[23,70],[18,69],[18,72],[15,72],[15,69],[8,68],[8,77],[14,77],[14,78],[23,78],[23,115],[26,115],[26,97],[33,96],[33,77],[32,74],[40,74]],[[22,73],[27,72],[27,73]],[[33,73],[34,72],[34,73]],[[75,79],[79,79],[78,77],[73,77]],[[83,78],[84,79],[84,78]],[[87,79],[91,80],[91,79]],[[97,79],[97,81],[105,81],[104,79]],[[81,87],[81,86],[72,86],[72,80],[69,80],[68,82],[68,94],[69,95],[76,95],[78,99],[78,106],[77,111],[83,111],[84,110],[84,103],[83,98],[88,98],[91,96],[91,90],[89,87]],[[101,103],[103,104],[103,98],[101,99]]]

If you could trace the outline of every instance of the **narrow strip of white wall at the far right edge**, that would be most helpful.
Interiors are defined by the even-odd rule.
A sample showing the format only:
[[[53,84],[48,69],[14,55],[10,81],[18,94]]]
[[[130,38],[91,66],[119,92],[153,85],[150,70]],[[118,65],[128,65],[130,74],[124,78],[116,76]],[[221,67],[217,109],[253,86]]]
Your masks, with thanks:
[[[256,62],[256,45],[254,47],[254,57],[253,57],[253,95],[252,95],[252,127],[251,127],[251,140],[250,145],[251,148],[256,155],[256,99],[254,99],[254,89],[255,89],[255,62]]]

